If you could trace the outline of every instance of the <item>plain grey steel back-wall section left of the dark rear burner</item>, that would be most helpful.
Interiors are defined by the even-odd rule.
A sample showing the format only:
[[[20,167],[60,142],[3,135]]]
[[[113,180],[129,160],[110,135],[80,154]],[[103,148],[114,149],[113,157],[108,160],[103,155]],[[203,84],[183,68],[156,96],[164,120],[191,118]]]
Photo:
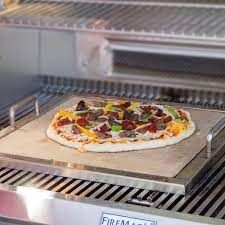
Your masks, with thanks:
[[[76,49],[74,32],[41,31],[40,74],[74,77]]]

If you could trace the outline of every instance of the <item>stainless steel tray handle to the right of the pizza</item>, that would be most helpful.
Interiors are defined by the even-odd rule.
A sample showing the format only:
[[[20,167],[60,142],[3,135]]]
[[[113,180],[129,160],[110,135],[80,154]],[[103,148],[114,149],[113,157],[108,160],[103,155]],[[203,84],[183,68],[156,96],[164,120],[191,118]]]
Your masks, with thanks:
[[[225,117],[221,119],[214,127],[209,130],[207,135],[207,157],[209,158],[212,155],[213,139],[225,128]],[[225,137],[224,137],[225,139]]]

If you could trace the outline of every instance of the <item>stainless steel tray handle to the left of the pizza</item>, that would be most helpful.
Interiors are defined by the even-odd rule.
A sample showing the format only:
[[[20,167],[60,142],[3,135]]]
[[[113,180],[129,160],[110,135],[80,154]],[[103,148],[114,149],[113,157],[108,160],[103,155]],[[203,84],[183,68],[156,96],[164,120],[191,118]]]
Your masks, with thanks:
[[[39,111],[39,103],[38,103],[38,99],[36,96],[29,96],[19,102],[17,102],[15,105],[12,105],[10,107],[10,110],[9,110],[9,117],[10,117],[10,127],[12,129],[15,129],[15,115],[16,115],[16,110],[25,106],[26,104],[30,103],[30,102],[33,102],[34,105],[35,105],[35,113],[36,113],[36,116],[39,116],[40,114],[40,111]]]

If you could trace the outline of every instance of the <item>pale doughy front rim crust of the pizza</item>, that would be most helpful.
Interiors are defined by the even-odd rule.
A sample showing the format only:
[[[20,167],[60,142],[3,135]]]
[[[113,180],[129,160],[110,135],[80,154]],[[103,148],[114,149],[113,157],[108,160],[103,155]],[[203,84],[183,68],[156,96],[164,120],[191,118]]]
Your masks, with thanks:
[[[189,115],[188,115],[189,116]],[[190,117],[190,116],[189,116]],[[47,130],[47,136],[60,143],[64,146],[70,148],[81,149],[82,151],[88,152],[127,152],[127,151],[137,151],[145,150],[151,148],[160,148],[168,145],[176,144],[188,137],[190,137],[195,131],[195,123],[189,118],[189,125],[186,131],[183,131],[179,136],[170,137],[168,139],[157,139],[157,140],[146,140],[146,141],[136,141],[127,143],[89,143],[82,144],[79,142],[68,141],[62,136],[58,135],[53,127],[50,125]]]

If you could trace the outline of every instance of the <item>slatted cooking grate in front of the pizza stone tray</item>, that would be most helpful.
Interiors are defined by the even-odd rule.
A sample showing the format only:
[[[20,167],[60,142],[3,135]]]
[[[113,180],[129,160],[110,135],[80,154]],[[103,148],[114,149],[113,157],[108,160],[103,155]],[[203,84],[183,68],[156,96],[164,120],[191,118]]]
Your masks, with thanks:
[[[225,155],[187,196],[4,167],[0,169],[0,183],[225,219]]]

